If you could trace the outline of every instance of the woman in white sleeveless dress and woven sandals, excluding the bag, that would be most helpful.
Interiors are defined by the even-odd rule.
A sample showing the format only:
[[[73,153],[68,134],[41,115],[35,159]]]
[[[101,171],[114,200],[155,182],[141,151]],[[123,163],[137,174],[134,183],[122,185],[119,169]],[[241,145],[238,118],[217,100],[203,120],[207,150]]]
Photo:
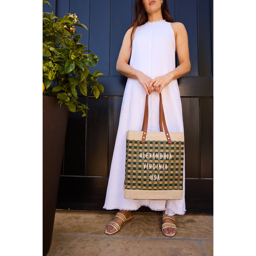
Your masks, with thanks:
[[[159,129],[159,93],[162,92],[165,119],[169,132],[183,132],[180,92],[177,78],[190,70],[188,36],[182,23],[173,22],[166,0],[137,0],[135,19],[128,28],[116,63],[116,70],[127,76],[113,153],[108,189],[103,208],[120,209],[105,234],[117,233],[131,220],[131,211],[148,206],[163,211],[162,231],[176,234],[175,214],[185,213],[185,187],[182,200],[140,200],[124,198],[126,131],[140,131],[145,95],[148,97],[148,131]],[[175,50],[179,66],[175,68]],[[131,57],[131,59],[130,59]],[[130,65],[128,64],[130,59]],[[146,94],[145,94],[146,93]],[[185,173],[183,173],[183,181]]]

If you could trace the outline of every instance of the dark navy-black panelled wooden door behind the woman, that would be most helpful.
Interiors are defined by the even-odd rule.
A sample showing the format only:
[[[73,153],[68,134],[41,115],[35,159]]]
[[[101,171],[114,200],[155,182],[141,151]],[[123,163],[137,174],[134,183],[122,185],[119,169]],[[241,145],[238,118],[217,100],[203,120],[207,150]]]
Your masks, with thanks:
[[[168,0],[174,21],[188,32],[190,72],[178,79],[185,132],[186,209],[213,213],[213,75],[212,0]],[[105,200],[126,78],[116,60],[126,29],[132,23],[134,0],[50,0],[45,12],[76,13],[88,31],[81,43],[99,57],[96,67],[104,93],[81,97],[86,117],[69,113],[58,209],[99,210]],[[142,207],[138,211],[150,211]]]

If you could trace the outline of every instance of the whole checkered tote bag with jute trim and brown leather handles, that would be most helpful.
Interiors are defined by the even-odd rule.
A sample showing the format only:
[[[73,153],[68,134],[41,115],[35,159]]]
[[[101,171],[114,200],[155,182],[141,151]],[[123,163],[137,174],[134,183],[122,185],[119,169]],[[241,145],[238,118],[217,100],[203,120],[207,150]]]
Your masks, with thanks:
[[[147,132],[148,95],[141,131],[126,132],[126,199],[181,200],[183,197],[184,132],[168,132],[161,93],[159,96],[160,132]]]

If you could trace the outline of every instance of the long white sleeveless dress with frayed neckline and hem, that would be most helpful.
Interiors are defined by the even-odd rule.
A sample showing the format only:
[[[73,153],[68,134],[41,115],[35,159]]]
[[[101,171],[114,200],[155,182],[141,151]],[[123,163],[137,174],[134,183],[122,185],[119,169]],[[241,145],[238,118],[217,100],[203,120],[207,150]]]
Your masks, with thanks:
[[[139,26],[132,42],[130,65],[152,79],[175,69],[175,37],[171,23],[165,20]],[[141,131],[146,92],[137,79],[127,79],[121,107],[116,143],[111,163],[104,209],[137,210],[148,206],[168,215],[185,213],[185,168],[182,200],[140,200],[124,198],[126,131]],[[169,132],[183,132],[180,91],[177,79],[162,90],[163,107]],[[152,91],[148,98],[148,131],[160,132],[159,94]],[[185,166],[184,166],[185,167]]]

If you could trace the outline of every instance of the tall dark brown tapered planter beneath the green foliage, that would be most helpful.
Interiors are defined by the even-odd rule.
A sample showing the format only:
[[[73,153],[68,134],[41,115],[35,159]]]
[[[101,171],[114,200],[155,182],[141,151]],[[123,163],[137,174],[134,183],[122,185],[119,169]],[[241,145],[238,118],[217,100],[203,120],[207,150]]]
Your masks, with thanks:
[[[43,255],[50,250],[68,121],[66,104],[43,95]]]

